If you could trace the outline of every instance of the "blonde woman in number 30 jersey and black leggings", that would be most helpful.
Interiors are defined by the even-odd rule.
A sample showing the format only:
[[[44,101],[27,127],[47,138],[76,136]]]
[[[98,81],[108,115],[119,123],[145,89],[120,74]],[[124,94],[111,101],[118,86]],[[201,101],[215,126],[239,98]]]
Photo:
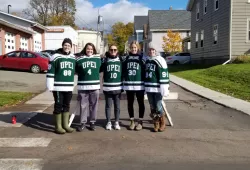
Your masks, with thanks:
[[[128,113],[130,117],[130,130],[141,130],[143,128],[143,117],[145,112],[144,106],[144,78],[145,78],[145,61],[139,54],[140,46],[137,41],[130,44],[130,53],[123,62],[124,84],[126,90]],[[134,120],[134,97],[136,96],[139,104],[139,121],[135,126]]]

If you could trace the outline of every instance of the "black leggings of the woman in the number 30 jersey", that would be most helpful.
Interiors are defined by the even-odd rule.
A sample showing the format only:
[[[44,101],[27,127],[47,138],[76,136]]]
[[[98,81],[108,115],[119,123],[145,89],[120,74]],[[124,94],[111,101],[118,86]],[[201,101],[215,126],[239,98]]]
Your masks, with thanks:
[[[144,117],[145,105],[144,105],[144,91],[126,91],[128,101],[128,113],[130,118],[134,118],[134,100],[135,95],[139,105],[139,118]]]

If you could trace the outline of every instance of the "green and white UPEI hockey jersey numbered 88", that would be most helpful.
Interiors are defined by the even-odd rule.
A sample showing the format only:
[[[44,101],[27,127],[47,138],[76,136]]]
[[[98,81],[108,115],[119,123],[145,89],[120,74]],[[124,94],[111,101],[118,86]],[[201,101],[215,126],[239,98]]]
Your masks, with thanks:
[[[47,88],[50,91],[73,91],[75,56],[56,53],[49,61],[46,74]]]

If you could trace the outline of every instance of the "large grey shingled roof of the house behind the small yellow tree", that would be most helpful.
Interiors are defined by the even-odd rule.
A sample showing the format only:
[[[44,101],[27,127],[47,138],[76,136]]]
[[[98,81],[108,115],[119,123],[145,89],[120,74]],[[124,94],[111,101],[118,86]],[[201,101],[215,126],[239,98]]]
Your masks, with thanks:
[[[149,10],[150,29],[191,29],[191,13],[186,10]]]

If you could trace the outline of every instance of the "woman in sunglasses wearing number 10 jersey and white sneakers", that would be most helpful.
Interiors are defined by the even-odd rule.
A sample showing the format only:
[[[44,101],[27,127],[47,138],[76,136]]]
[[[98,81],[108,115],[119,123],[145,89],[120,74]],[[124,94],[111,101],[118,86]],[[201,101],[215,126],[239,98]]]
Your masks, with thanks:
[[[101,66],[103,72],[103,93],[105,95],[105,114],[107,119],[106,130],[112,129],[111,124],[111,107],[114,102],[115,114],[115,130],[120,130],[120,99],[122,92],[122,60],[118,56],[116,45],[109,47],[109,52],[106,53],[106,58],[103,59]]]

